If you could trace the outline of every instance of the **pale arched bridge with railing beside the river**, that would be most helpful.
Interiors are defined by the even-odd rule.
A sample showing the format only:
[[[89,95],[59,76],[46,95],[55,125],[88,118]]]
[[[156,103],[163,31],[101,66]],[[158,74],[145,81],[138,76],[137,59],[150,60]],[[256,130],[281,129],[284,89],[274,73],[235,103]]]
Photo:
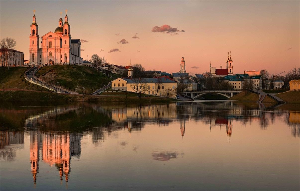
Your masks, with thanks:
[[[194,100],[201,97],[204,94],[219,94],[227,98],[230,98],[242,91],[243,90],[199,90],[199,91],[184,91],[182,92],[182,94],[183,96],[186,96]]]

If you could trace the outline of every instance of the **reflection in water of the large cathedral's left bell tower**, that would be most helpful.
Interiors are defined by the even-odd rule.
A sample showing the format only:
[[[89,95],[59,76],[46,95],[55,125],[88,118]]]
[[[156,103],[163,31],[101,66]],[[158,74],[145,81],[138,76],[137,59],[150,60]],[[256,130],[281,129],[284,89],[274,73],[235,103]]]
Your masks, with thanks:
[[[31,163],[31,173],[33,175],[34,184],[36,184],[37,173],[38,173],[38,163],[40,160],[40,142],[41,135],[37,131],[30,132],[30,163]]]

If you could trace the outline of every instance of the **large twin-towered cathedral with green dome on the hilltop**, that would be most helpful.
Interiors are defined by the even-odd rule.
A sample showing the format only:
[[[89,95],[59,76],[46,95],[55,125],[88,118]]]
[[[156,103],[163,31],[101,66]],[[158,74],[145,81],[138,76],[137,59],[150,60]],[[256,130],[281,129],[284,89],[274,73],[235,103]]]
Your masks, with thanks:
[[[82,58],[80,57],[81,43],[79,39],[71,40],[67,10],[64,22],[60,16],[58,27],[54,33],[50,31],[42,36],[41,43],[39,42],[35,11],[30,28],[29,65],[82,64]]]

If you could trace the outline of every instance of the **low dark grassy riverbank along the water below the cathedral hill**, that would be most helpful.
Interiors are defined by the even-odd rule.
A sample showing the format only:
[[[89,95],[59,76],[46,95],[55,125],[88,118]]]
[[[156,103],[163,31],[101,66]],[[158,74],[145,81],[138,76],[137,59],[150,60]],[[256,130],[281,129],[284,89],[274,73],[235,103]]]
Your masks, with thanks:
[[[58,94],[37,91],[1,91],[0,101],[41,101],[41,102],[76,102],[82,101],[82,94]],[[164,97],[142,97],[137,96],[106,96],[106,95],[84,95],[86,102],[106,102],[106,103],[167,103],[176,101],[172,98]]]

